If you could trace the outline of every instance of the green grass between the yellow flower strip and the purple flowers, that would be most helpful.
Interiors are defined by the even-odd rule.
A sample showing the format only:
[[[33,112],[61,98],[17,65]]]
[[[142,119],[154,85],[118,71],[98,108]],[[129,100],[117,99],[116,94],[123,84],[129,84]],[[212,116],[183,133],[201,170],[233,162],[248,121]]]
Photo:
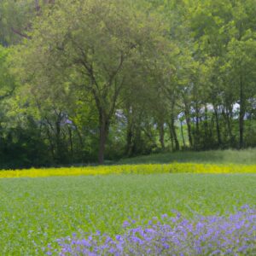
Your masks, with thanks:
[[[121,231],[138,221],[171,213],[234,211],[256,202],[253,174],[109,175],[3,178],[0,180],[1,255],[41,254],[41,247],[79,229]]]

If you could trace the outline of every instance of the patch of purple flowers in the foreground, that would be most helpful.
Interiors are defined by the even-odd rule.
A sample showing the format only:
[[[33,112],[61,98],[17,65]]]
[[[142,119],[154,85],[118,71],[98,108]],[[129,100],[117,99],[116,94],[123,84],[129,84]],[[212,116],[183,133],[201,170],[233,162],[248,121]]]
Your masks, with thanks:
[[[137,228],[131,225],[125,221],[124,234],[115,237],[73,234],[58,241],[59,255],[256,255],[256,210],[250,207],[193,220],[165,214]]]

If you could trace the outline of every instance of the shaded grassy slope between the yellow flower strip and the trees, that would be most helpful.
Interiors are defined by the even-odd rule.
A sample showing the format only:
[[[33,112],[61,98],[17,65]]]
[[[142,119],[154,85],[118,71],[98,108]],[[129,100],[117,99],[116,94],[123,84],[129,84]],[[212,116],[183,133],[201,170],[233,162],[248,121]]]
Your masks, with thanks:
[[[118,164],[166,164],[172,162],[254,165],[256,164],[256,148],[151,154],[119,160]]]

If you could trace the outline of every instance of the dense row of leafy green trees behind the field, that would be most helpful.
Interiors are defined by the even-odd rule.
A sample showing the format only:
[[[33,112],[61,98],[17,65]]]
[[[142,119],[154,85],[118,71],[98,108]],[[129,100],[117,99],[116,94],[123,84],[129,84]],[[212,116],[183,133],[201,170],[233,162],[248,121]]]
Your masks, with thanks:
[[[2,166],[255,146],[255,13],[255,0],[2,0]]]

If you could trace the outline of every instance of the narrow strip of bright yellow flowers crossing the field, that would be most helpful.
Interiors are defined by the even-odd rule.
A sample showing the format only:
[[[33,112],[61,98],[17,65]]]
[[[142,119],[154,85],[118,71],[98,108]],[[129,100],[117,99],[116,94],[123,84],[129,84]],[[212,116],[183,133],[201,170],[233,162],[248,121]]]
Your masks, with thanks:
[[[173,163],[167,165],[86,166],[70,168],[0,171],[2,177],[51,177],[153,173],[256,173],[256,166]]]

